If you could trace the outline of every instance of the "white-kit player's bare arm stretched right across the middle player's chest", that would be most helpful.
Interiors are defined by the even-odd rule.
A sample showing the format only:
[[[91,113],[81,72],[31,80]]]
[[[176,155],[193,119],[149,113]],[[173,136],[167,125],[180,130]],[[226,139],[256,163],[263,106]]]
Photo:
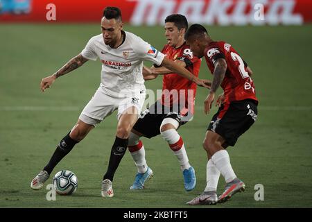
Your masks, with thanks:
[[[162,64],[163,67],[166,67],[167,69],[170,69],[172,72],[183,76],[184,78],[187,78],[191,81],[193,81],[194,83],[196,83],[199,86],[205,87],[205,88],[210,88],[209,85],[207,85],[208,80],[202,80],[200,78],[197,78],[196,76],[194,76],[193,74],[191,74],[191,72],[187,69],[184,69],[184,67],[181,67],[180,65],[177,65],[175,62],[173,62],[172,60],[169,60],[168,58],[164,58],[164,60],[162,60]]]

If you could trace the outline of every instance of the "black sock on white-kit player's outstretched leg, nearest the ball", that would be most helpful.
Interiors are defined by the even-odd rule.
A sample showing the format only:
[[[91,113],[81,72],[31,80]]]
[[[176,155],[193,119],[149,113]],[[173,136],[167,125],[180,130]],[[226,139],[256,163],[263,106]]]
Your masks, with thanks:
[[[54,167],[62,160],[62,158],[67,155],[73,146],[78,142],[69,137],[69,133],[60,141],[58,147],[54,151],[49,163],[44,167],[44,171],[47,171],[49,174],[53,171]]]

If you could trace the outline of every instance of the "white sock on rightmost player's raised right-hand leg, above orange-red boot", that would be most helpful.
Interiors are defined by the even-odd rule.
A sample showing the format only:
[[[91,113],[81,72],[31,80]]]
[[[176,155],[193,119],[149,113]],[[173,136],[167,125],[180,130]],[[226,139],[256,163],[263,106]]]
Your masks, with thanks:
[[[229,153],[227,153],[227,151],[221,150],[214,153],[211,160],[225,178],[225,182],[231,182],[236,178],[231,163],[229,162]]]

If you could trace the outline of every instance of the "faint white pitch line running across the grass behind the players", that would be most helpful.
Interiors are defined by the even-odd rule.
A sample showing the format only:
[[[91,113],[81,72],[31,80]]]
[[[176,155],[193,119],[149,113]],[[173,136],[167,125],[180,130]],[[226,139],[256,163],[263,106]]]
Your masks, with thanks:
[[[78,106],[0,106],[0,111],[79,111]],[[204,110],[204,106],[195,106],[196,110]],[[259,105],[258,110],[263,111],[312,111],[312,106],[270,106]]]

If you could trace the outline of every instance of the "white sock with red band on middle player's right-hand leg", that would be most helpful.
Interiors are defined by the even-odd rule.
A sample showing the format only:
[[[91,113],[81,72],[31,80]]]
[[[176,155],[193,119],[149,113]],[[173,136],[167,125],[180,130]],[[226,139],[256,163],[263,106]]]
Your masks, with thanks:
[[[191,165],[189,164],[189,158],[187,157],[187,151],[184,147],[184,142],[182,137],[177,133],[177,130],[170,129],[161,132],[162,137],[168,142],[171,150],[177,157],[177,160],[180,163],[180,169],[189,169]]]

